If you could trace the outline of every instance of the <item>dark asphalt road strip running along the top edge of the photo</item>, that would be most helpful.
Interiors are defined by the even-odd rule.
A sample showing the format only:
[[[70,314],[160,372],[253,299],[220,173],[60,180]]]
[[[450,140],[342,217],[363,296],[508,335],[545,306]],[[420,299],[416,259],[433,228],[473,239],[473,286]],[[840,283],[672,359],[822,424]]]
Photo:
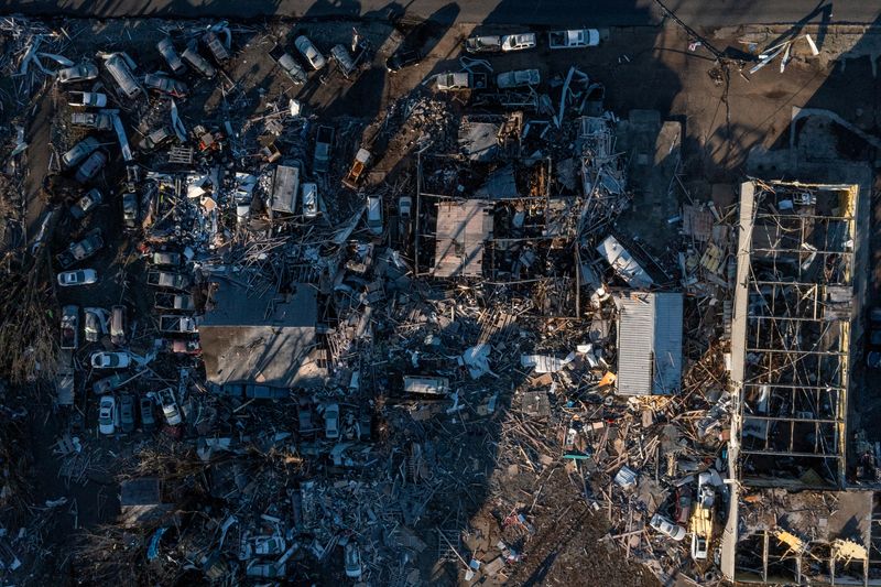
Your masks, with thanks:
[[[808,15],[820,22],[873,23],[878,0],[666,0],[693,26],[795,23]],[[825,7],[825,8],[824,8]],[[390,11],[411,15],[456,14],[475,24],[566,26],[644,25],[657,23],[654,0],[0,0],[0,12],[40,15],[184,17],[261,19],[265,17],[387,18]]]

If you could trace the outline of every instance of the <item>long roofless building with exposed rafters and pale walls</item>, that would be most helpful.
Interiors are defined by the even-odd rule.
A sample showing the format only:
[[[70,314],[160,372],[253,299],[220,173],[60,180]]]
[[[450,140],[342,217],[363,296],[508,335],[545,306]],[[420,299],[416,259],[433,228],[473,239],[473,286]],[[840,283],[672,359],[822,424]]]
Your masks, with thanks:
[[[856,184],[741,185],[721,551],[739,581],[881,584],[877,497],[848,481],[860,197]]]

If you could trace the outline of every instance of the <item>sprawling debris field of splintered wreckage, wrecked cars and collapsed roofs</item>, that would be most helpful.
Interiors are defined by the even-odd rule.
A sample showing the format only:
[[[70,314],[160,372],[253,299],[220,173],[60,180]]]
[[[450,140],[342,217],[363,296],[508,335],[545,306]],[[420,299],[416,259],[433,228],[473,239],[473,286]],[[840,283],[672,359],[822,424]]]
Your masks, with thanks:
[[[720,580],[733,208],[683,208],[678,268],[628,238],[624,130],[575,66],[490,89],[463,57],[368,120],[311,98],[418,54],[161,32],[50,56],[51,209],[4,273],[2,371],[55,382],[58,478],[119,485],[77,577],[503,584],[600,521],[664,584]]]

